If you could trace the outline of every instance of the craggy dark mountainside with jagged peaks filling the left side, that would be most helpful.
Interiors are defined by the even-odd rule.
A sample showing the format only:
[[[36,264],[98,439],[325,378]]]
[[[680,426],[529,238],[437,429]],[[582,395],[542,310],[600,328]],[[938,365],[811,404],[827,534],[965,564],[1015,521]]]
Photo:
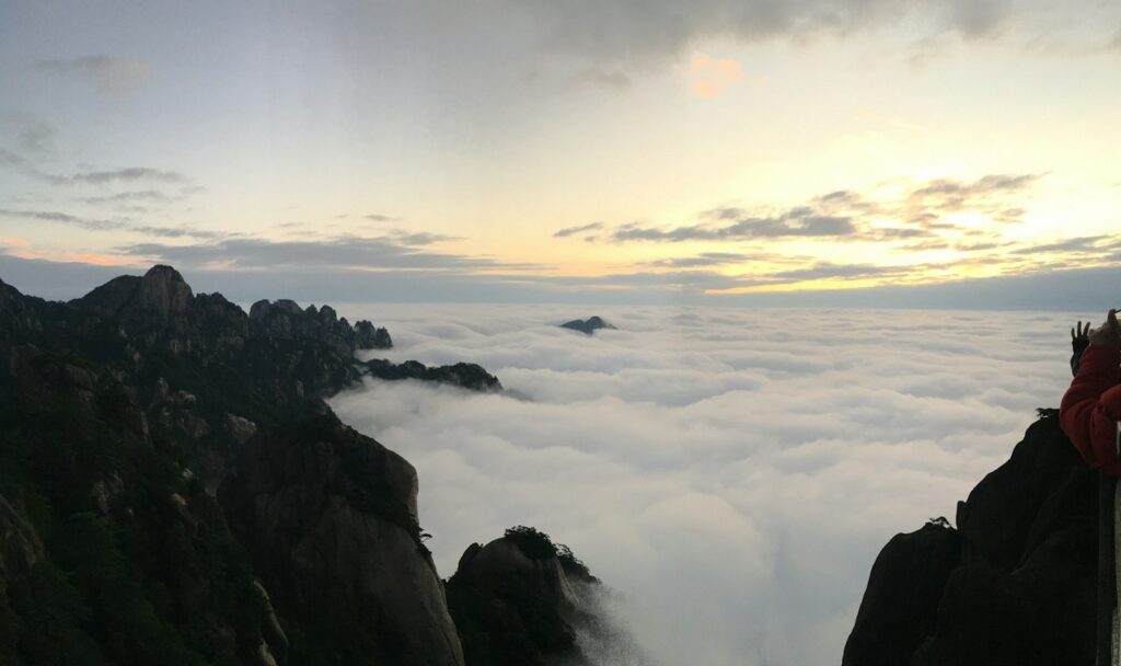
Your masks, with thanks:
[[[0,663],[493,663],[465,658],[462,626],[522,633],[472,609],[457,628],[416,471],[321,398],[365,376],[501,385],[354,358],[390,344],[328,306],[247,314],[163,266],[70,303],[0,281]],[[569,654],[568,596],[537,601],[546,653]]]

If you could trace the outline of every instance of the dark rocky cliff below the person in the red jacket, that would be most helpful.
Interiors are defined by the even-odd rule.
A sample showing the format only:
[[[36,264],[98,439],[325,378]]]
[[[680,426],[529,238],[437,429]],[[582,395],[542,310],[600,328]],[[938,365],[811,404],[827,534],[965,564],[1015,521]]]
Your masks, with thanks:
[[[844,666],[1093,666],[1097,475],[1054,410],[958,502],[956,525],[883,547]]]

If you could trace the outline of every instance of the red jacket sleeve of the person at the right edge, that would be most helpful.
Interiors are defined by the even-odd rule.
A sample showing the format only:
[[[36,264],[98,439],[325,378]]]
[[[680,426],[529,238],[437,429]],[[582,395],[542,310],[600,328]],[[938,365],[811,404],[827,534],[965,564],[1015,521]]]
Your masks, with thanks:
[[[1118,422],[1121,420],[1121,346],[1092,344],[1082,355],[1078,373],[1063,396],[1063,432],[1093,468],[1121,474]]]

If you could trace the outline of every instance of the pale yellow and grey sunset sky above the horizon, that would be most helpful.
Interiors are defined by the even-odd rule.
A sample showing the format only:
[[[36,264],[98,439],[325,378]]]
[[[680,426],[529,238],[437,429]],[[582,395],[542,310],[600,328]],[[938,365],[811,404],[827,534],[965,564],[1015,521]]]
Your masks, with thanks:
[[[98,267],[165,262],[318,299],[1084,292],[1121,267],[1119,65],[1108,0],[11,0],[0,279],[76,296]]]

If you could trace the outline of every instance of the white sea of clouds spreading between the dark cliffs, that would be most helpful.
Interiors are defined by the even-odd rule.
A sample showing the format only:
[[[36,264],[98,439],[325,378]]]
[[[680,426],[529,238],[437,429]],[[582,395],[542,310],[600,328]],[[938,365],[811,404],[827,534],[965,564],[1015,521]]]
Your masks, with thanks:
[[[997,468],[1069,382],[1057,313],[350,305],[371,355],[507,394],[368,381],[441,575],[512,525],[568,544],[655,663],[840,663],[877,553]],[[600,314],[594,336],[556,324]]]

